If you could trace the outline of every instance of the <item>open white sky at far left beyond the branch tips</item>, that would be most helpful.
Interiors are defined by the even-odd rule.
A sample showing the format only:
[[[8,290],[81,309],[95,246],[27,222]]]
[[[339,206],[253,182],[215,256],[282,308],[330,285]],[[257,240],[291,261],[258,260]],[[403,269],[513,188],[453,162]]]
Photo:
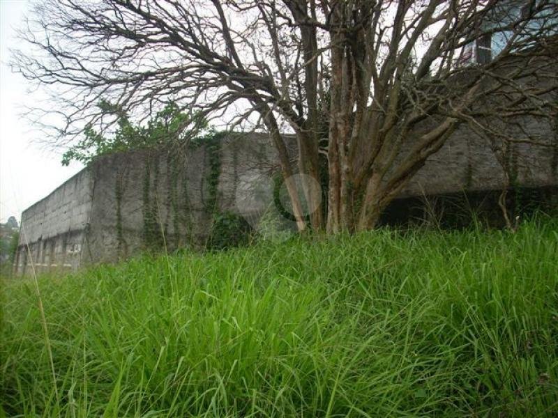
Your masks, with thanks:
[[[21,114],[33,102],[29,82],[8,67],[11,47],[18,42],[27,0],[0,0],[0,222],[21,212],[82,169],[80,164],[62,167],[61,153],[38,144],[40,132]],[[17,45],[20,46],[20,45]]]

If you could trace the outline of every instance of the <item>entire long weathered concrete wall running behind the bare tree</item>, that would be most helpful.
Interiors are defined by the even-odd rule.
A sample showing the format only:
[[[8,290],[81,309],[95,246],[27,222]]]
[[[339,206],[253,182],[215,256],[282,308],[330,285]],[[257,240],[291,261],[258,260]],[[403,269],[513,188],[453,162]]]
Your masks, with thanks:
[[[541,141],[557,144],[549,125],[532,118],[523,125]],[[294,141],[289,144],[294,153]],[[558,146],[515,144],[511,154],[515,184],[558,186]],[[29,272],[25,242],[40,271],[116,261],[150,247],[165,245],[172,251],[202,243],[214,210],[253,219],[268,208],[276,160],[266,134],[229,134],[218,146],[103,157],[24,211],[17,272]],[[213,186],[211,178],[216,180]],[[258,194],[261,185],[268,196]],[[483,192],[503,185],[502,166],[490,144],[461,127],[399,198]]]

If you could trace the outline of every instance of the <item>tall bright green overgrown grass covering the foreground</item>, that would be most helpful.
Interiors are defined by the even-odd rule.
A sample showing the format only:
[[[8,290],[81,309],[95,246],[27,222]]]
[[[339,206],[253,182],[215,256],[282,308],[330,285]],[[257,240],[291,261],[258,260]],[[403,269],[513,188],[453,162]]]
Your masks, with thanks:
[[[3,286],[7,416],[558,411],[558,221],[138,258]],[[0,412],[0,415],[2,413]]]

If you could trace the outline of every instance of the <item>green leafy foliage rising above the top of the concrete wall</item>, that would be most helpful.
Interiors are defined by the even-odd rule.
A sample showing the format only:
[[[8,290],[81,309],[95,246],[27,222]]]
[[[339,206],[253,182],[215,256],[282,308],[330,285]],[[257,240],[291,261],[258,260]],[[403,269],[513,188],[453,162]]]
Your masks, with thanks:
[[[199,114],[189,116],[175,103],[169,103],[159,111],[146,126],[133,125],[126,112],[107,101],[98,104],[103,114],[116,118],[116,130],[112,136],[97,132],[91,125],[84,128],[84,138],[71,146],[62,156],[62,164],[72,160],[89,164],[96,157],[126,150],[152,148],[172,141],[180,142],[206,128],[206,121]]]

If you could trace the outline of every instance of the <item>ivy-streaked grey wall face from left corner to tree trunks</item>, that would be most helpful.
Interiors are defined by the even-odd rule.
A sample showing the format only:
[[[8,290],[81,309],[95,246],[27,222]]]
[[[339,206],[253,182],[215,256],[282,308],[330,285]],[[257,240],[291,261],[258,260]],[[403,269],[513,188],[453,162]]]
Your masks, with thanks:
[[[105,157],[91,167],[95,178],[86,260],[114,261],[142,249],[169,251],[208,238],[211,214],[250,217],[264,211],[253,199],[239,208],[237,187],[276,172],[266,134],[229,134],[219,146],[141,150]],[[216,173],[211,173],[217,170]],[[216,187],[211,190],[212,176]]]

